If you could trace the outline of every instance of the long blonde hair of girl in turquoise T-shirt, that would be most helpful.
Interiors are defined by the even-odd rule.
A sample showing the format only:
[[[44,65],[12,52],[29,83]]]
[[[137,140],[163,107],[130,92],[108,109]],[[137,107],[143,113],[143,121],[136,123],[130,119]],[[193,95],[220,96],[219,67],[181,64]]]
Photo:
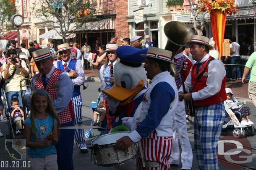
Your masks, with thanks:
[[[34,136],[34,140],[37,140],[37,127],[36,127],[36,123],[35,123],[35,118],[36,118],[36,110],[34,107],[34,101],[36,99],[36,96],[45,96],[46,100],[47,100],[47,108],[46,108],[46,112],[47,114],[50,114],[52,116],[52,122],[53,122],[53,126],[52,126],[52,131],[54,129],[54,119],[57,120],[57,127],[60,127],[60,119],[59,116],[57,115],[53,104],[52,104],[52,100],[49,97],[49,94],[47,93],[47,91],[43,90],[43,89],[39,89],[37,91],[34,92],[34,94],[31,97],[31,101],[30,101],[30,121],[31,121],[31,132],[33,133]],[[60,134],[60,130],[58,129],[58,134]]]

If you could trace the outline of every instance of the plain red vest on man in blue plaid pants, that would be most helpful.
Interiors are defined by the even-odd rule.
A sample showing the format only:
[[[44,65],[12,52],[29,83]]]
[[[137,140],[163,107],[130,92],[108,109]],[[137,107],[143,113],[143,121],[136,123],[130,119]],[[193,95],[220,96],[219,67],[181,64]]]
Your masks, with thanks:
[[[212,56],[210,56],[204,63],[201,64],[200,69],[199,69],[199,74],[201,72],[208,73],[208,67],[206,68],[205,71],[204,71],[204,68],[206,67],[207,61],[211,58],[212,58]],[[192,66],[192,70],[191,70],[192,87],[196,83],[196,78],[199,75],[199,74],[197,74],[196,71],[197,71],[197,64],[194,64]],[[207,81],[208,75],[204,76],[204,73],[201,76],[201,79],[197,82],[196,87],[193,89],[193,92],[197,92],[201,89],[204,89],[204,87],[206,87],[206,81]],[[221,101],[225,101],[227,99],[227,95],[226,95],[226,91],[225,91],[225,84],[226,84],[226,76],[222,80],[220,91],[217,94],[210,96],[203,100],[194,101],[194,105],[195,106],[209,106],[212,104],[220,103]]]

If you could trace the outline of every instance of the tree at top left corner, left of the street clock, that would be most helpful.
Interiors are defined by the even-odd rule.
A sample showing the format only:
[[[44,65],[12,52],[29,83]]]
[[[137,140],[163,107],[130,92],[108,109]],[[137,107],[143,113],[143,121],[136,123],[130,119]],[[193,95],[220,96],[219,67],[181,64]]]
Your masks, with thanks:
[[[16,7],[14,3],[10,3],[10,0],[0,0],[0,39],[8,30],[13,28],[10,23],[10,17],[16,13]]]

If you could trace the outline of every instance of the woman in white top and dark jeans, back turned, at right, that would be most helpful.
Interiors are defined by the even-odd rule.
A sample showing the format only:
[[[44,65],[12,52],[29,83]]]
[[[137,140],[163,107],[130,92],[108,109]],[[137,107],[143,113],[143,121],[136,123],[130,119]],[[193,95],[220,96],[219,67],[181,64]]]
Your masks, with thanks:
[[[230,49],[235,48],[235,53],[230,54],[230,64],[234,64],[231,65],[231,80],[240,80],[242,79],[240,66],[236,66],[237,64],[240,64],[240,45],[237,42],[235,42],[235,36],[232,36],[230,41]]]

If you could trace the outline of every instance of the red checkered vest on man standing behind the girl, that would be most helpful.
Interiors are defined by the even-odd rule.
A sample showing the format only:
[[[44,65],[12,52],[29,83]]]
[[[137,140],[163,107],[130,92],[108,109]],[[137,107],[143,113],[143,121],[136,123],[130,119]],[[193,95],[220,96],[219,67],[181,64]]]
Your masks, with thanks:
[[[48,92],[50,98],[52,101],[55,100],[55,94],[58,91],[57,83],[60,78],[60,75],[63,73],[63,71],[59,69],[54,69],[49,80],[47,81],[46,91]],[[36,90],[37,89],[44,89],[44,85],[42,82],[42,77],[40,77],[40,74],[37,74],[35,79],[35,85]],[[52,86],[56,87],[52,89]],[[60,124],[71,122],[73,119],[75,119],[74,112],[73,112],[73,105],[72,101],[69,102],[68,107],[64,109],[62,112],[58,114],[60,118]]]

